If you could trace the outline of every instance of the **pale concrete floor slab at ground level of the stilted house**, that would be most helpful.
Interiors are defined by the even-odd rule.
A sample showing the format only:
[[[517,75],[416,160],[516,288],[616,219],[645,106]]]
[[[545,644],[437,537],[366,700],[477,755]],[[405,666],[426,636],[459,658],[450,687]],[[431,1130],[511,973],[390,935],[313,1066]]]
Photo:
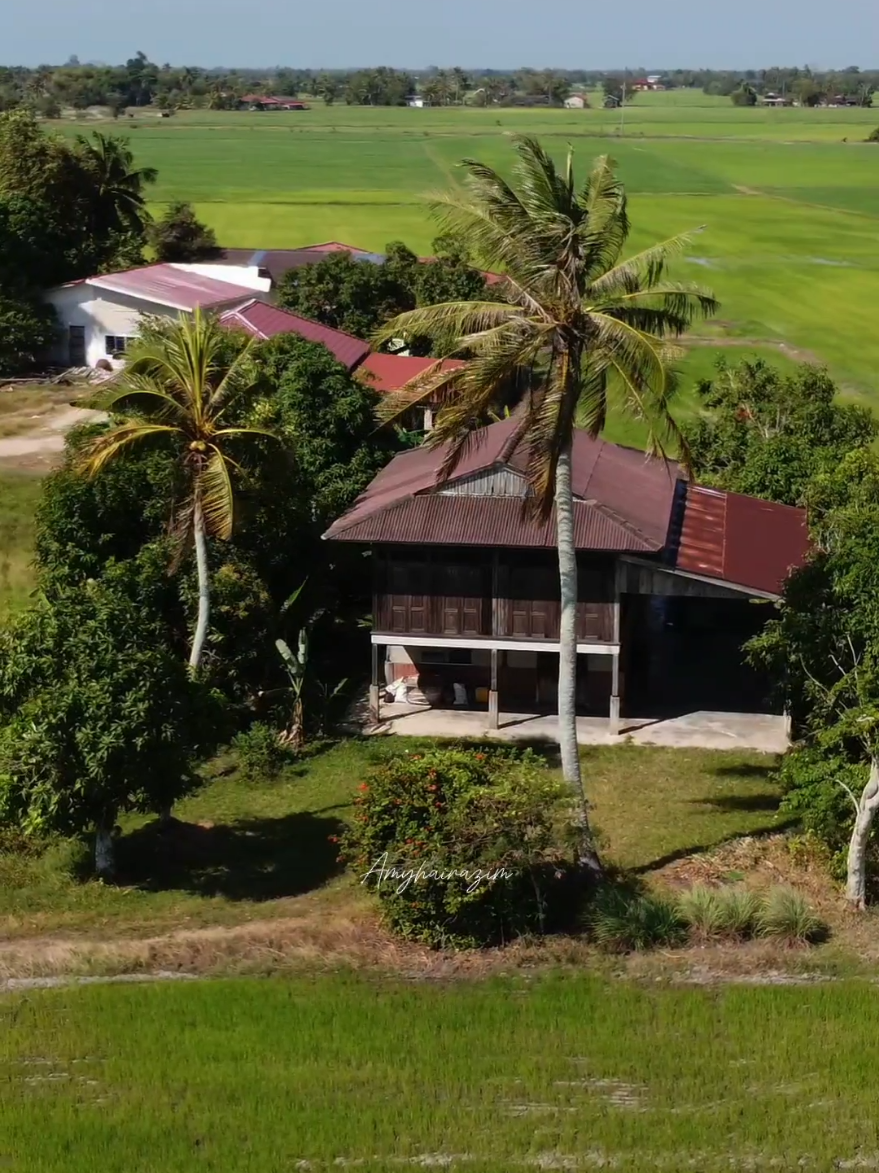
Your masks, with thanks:
[[[484,712],[393,704],[381,706],[381,721],[368,732],[557,743],[559,719],[533,713],[501,713],[500,728],[489,730],[488,714]],[[785,719],[764,713],[696,712],[662,720],[623,719],[618,735],[610,733],[604,718],[577,718],[581,745],[620,745],[627,740],[668,748],[757,750],[760,753],[784,753],[789,745]]]

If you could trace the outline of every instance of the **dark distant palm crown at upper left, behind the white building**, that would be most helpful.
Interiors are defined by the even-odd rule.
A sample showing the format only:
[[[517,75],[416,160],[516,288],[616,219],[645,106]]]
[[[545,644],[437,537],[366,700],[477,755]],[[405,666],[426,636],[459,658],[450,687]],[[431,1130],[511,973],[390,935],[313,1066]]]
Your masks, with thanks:
[[[76,136],[80,158],[95,185],[94,228],[100,232],[142,232],[149,219],[144,189],[154,167],[136,168],[127,140],[94,131]]]

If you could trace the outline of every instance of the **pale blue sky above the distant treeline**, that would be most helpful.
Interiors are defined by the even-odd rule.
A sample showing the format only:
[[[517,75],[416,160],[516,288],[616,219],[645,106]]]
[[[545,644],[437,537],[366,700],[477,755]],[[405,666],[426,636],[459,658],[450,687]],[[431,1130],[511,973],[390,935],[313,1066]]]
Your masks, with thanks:
[[[0,63],[425,68],[879,67],[878,0],[40,0],[0,18]]]

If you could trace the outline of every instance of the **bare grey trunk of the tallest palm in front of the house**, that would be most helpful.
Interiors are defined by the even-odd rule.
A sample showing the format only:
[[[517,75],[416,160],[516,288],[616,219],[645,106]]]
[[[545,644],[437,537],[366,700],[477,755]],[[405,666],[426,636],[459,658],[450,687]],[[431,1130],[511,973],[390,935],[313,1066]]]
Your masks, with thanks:
[[[601,861],[589,827],[589,804],[577,747],[577,556],[574,544],[574,494],[572,445],[559,456],[555,470],[555,524],[559,549],[561,616],[559,624],[559,750],[562,774],[580,806],[580,863],[600,875]]]

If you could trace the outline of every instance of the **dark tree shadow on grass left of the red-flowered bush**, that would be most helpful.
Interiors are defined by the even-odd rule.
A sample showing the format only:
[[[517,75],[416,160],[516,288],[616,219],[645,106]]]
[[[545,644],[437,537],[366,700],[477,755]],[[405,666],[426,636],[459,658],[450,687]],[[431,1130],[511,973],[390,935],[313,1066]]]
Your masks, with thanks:
[[[307,812],[218,826],[156,820],[119,841],[119,881],[226,900],[298,896],[343,870],[330,841],[343,830],[338,819]]]

